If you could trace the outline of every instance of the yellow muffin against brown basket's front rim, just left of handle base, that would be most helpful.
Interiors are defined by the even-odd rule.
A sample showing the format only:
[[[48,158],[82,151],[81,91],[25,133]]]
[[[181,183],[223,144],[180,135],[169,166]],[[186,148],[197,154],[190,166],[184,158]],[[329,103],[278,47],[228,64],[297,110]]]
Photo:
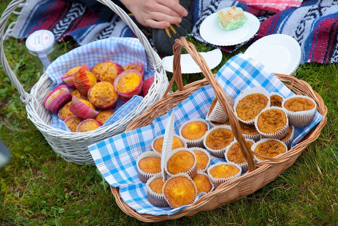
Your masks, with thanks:
[[[241,175],[242,168],[233,162],[219,162],[209,166],[208,176],[217,188],[222,183]]]

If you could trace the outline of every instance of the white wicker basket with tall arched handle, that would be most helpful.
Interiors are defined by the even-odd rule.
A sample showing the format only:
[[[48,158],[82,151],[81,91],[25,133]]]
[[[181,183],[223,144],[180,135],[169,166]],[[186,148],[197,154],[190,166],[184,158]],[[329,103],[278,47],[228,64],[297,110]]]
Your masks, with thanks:
[[[25,0],[13,0],[9,3],[0,19],[0,61],[6,74],[19,91],[22,103],[26,104],[28,118],[42,132],[52,149],[61,154],[61,157],[77,164],[94,164],[94,161],[87,149],[87,146],[103,139],[112,137],[125,130],[127,125],[137,116],[141,115],[148,107],[158,101],[164,94],[169,82],[162,66],[162,60],[150,46],[147,38],[141,30],[130,19],[130,17],[116,4],[110,0],[97,0],[111,8],[136,34],[147,54],[148,66],[154,71],[154,83],[150,87],[148,95],[128,115],[121,118],[112,125],[98,128],[89,132],[67,132],[55,129],[51,126],[51,113],[42,106],[43,100],[49,92],[49,85],[52,81],[46,74],[43,74],[39,81],[32,87],[28,94],[22,87],[20,81],[8,65],[4,55],[4,30],[10,14]]]

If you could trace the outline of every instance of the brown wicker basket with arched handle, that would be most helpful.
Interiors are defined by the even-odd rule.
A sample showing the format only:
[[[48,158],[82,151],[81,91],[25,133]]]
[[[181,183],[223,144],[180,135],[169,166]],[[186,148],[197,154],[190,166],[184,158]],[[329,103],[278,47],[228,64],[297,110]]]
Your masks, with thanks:
[[[184,47],[188,51],[188,53],[192,56],[195,62],[200,66],[203,75],[206,77],[205,79],[190,83],[186,86],[183,85],[181,68],[179,66],[180,50],[182,47]],[[153,119],[167,114],[170,109],[178,105],[184,99],[188,98],[194,91],[201,88],[202,86],[210,84],[215,91],[217,99],[220,100],[221,106],[229,116],[230,125],[236,139],[239,141],[241,150],[248,162],[249,167],[247,173],[238,178],[221,184],[215,191],[205,194],[191,206],[169,216],[139,214],[122,201],[118,187],[111,187],[111,191],[116,199],[116,203],[122,209],[122,211],[125,212],[127,215],[144,222],[159,222],[168,219],[176,219],[183,216],[191,216],[199,211],[213,210],[216,209],[218,206],[222,206],[226,203],[248,196],[252,192],[257,191],[266,184],[270,183],[285,169],[290,167],[296,161],[301,152],[303,152],[303,150],[311,142],[319,137],[321,129],[325,126],[327,122],[326,115],[328,109],[324,105],[323,99],[315,91],[313,91],[313,89],[307,82],[296,79],[293,76],[275,74],[295,94],[307,95],[312,97],[317,103],[317,111],[324,117],[324,119],[313,129],[311,129],[306,137],[304,137],[301,142],[291,148],[288,152],[279,155],[277,159],[270,158],[263,162],[255,163],[252,156],[254,152],[252,152],[248,148],[247,143],[245,142],[245,139],[241,134],[238,120],[236,119],[232,108],[227,102],[224,101],[226,99],[224,91],[219,83],[216,81],[214,75],[211,73],[203,57],[197,52],[195,46],[192,43],[187,42],[187,40],[183,37],[180,39],[176,39],[176,44],[173,46],[173,49],[174,76],[164,96],[161,100],[148,108],[141,116],[134,119],[129,124],[126,131],[150,125]],[[168,91],[170,90],[174,80],[177,83],[178,91],[172,94],[168,94]],[[255,155],[257,154],[255,153]],[[255,169],[256,166],[259,166],[259,168]]]

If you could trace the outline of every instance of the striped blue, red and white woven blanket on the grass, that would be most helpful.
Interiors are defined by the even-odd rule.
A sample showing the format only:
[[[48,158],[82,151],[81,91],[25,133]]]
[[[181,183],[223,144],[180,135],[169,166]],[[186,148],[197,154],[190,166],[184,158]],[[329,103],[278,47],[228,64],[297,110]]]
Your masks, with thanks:
[[[235,46],[216,46],[234,52],[270,34],[286,34],[295,38],[302,49],[301,63],[338,62],[338,0],[307,0],[300,7],[290,7],[279,13],[264,11],[238,1],[195,0],[194,27],[191,35],[205,42],[199,35],[201,22],[210,14],[236,5],[260,19],[258,33],[249,41]],[[26,38],[38,29],[51,30],[58,41],[71,36],[80,44],[107,37],[135,37],[131,29],[116,15],[110,22],[99,18],[79,3],[64,0],[29,0],[24,4],[14,27],[7,36]]]

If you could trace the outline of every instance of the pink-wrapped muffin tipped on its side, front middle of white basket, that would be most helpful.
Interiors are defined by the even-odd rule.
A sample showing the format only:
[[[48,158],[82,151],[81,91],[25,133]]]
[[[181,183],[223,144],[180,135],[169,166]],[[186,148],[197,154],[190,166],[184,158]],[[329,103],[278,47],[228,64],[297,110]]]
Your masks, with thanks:
[[[75,96],[72,98],[69,110],[82,119],[93,119],[99,114],[91,102]]]

